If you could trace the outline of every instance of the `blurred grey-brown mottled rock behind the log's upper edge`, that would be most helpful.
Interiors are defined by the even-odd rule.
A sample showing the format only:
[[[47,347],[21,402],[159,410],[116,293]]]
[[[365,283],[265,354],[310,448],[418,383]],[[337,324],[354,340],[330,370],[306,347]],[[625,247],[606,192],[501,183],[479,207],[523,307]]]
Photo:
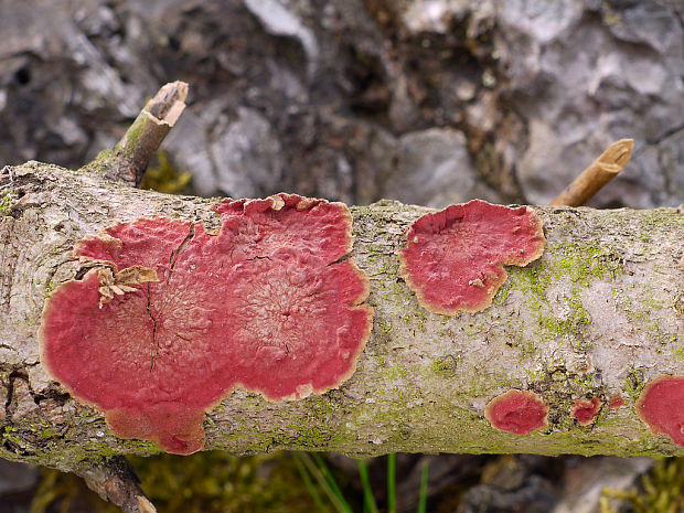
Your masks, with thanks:
[[[160,84],[203,195],[545,203],[633,137],[595,206],[684,202],[673,1],[0,0],[0,162],[77,168]]]

